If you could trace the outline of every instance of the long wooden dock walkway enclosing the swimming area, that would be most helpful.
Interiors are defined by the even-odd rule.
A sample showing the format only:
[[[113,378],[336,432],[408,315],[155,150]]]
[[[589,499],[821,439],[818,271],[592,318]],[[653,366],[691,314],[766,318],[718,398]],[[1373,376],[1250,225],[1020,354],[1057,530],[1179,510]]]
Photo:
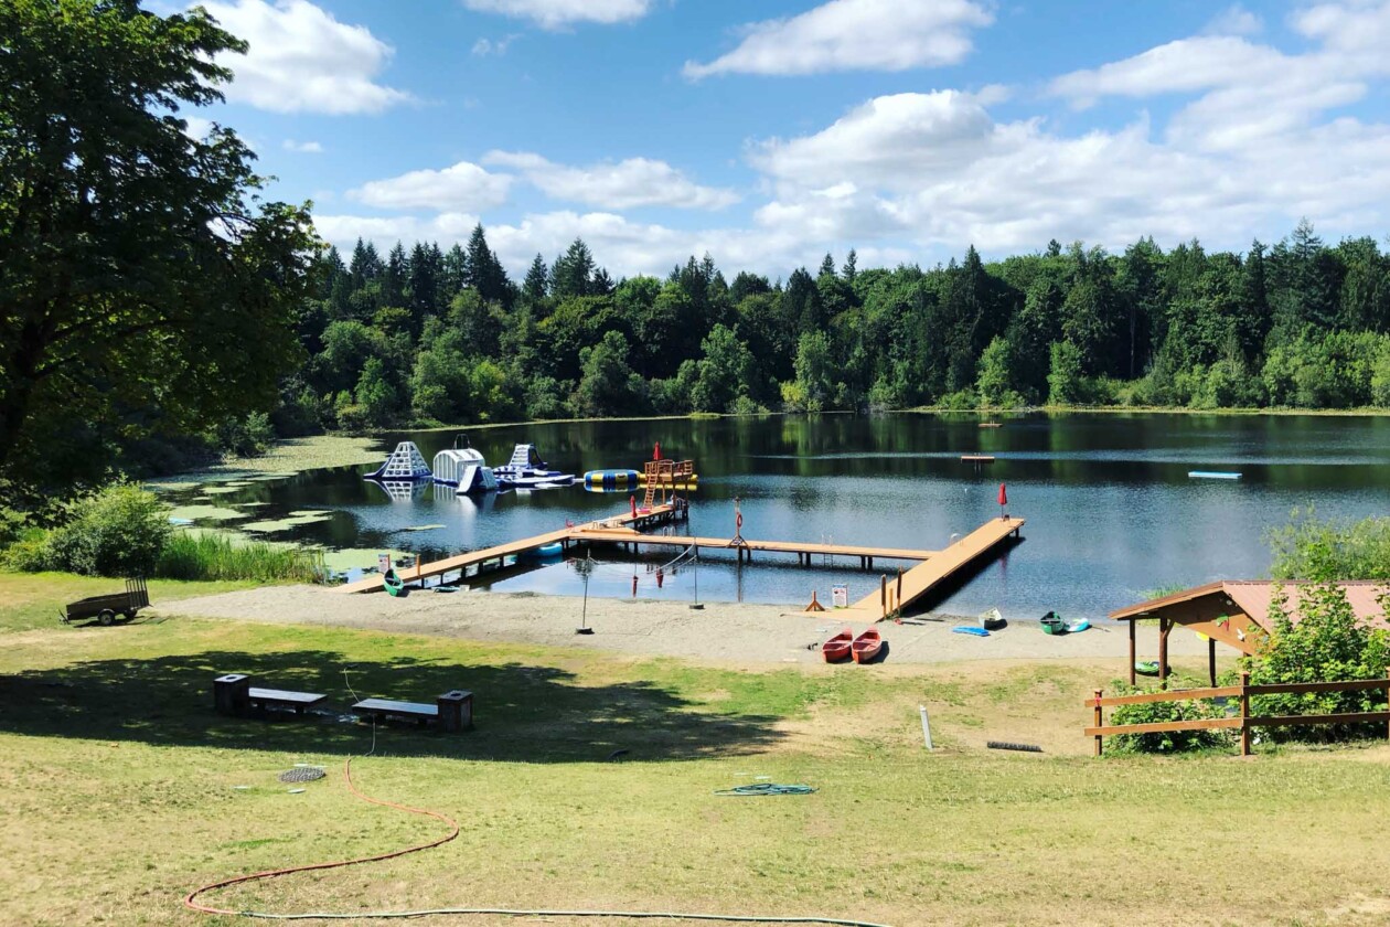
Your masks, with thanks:
[[[506,557],[513,557],[527,550],[534,550],[550,543],[564,545],[567,549],[574,543],[621,543],[638,546],[667,546],[667,548],[705,548],[708,550],[734,550],[738,561],[745,559],[752,561],[753,552],[760,553],[795,553],[796,563],[810,566],[812,557],[859,557],[859,566],[873,568],[874,559],[880,560],[919,560],[920,563],[906,573],[898,573],[891,581],[885,577],[880,589],[865,596],[848,609],[840,609],[837,616],[844,616],[847,621],[881,621],[895,612],[910,607],[933,589],[959,574],[970,564],[995,553],[1011,538],[1019,538],[1024,525],[1023,518],[991,518],[966,536],[952,543],[945,550],[903,550],[897,548],[873,548],[851,543],[810,543],[796,541],[749,541],[745,538],[695,538],[680,535],[641,534],[644,528],[664,525],[676,521],[684,514],[678,506],[656,506],[651,511],[638,511],[635,516],[623,514],[589,521],[582,525],[573,525],[537,535],[512,541],[495,548],[473,550],[456,557],[424,563],[416,568],[404,568],[400,577],[410,581],[423,581],[430,577],[441,577],[446,573],[464,573],[468,567],[484,567],[488,563],[502,566]],[[382,588],[379,575],[367,577],[357,582],[339,586],[341,592],[377,592]]]

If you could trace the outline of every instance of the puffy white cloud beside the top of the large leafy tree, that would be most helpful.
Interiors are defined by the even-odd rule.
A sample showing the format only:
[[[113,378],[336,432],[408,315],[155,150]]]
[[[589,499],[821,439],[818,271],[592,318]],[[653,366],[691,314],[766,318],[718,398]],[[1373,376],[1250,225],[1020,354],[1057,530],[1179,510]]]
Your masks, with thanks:
[[[245,39],[245,57],[224,56],[236,72],[227,99],[272,113],[379,113],[406,103],[403,90],[375,82],[393,49],[366,26],[338,22],[307,0],[208,0],[228,32]]]

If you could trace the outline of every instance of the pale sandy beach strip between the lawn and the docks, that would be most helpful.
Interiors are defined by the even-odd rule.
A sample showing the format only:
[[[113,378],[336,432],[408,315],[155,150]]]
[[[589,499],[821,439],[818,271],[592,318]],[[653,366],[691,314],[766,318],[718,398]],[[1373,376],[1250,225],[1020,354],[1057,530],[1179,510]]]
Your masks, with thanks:
[[[507,641],[546,646],[577,646],[641,656],[671,656],[744,666],[823,664],[819,645],[844,627],[834,612],[805,613],[794,606],[709,602],[702,610],[687,603],[646,599],[588,600],[587,624],[594,634],[575,634],[584,603],[580,598],[535,593],[414,591],[392,599],[384,593],[345,595],[318,586],[271,586],[199,599],[161,609],[171,616],[236,618],[282,624],[332,624]],[[952,632],[973,618],[926,614],[902,624],[878,624],[888,646],[887,664],[955,663],[962,660],[1048,660],[1115,657],[1125,668],[1129,637],[1125,625],[1094,627],[1051,637],[1037,623],[1011,623],[987,638]],[[1193,634],[1169,638],[1173,657],[1205,656],[1207,645]],[[1158,628],[1141,624],[1138,653],[1158,653]],[[1222,656],[1229,656],[1223,653]]]

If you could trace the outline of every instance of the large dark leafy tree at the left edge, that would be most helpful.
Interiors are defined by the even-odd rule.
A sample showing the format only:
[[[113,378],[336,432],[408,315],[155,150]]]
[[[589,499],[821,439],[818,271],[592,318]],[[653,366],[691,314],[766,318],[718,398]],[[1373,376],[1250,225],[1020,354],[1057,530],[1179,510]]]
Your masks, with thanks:
[[[316,239],[254,154],[185,107],[246,46],[200,8],[0,3],[0,471],[60,481],[101,442],[270,406]]]

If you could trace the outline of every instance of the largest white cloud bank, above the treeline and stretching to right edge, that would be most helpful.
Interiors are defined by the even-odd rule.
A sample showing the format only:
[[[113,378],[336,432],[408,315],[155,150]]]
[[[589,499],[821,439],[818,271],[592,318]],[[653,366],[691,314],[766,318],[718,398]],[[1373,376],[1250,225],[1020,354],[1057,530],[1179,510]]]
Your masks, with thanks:
[[[999,88],[870,99],[817,129],[749,143],[745,156],[766,196],[751,220],[716,228],[619,213],[645,204],[667,171],[689,183],[663,163],[646,163],[659,179],[644,185],[624,175],[627,161],[598,165],[620,183],[592,167],[493,153],[489,167],[505,163],[542,189],[549,183],[552,196],[603,208],[489,224],[488,240],[513,274],[537,252],[549,260],[582,236],[614,275],[663,274],[708,250],[726,270],[785,277],[827,250],[842,259],[851,246],[860,267],[872,267],[930,264],[972,243],[1004,256],[1052,238],[1119,249],[1145,235],[1168,246],[1195,236],[1208,247],[1244,249],[1301,217],[1330,239],[1377,233],[1390,225],[1390,117],[1369,101],[1387,89],[1390,60],[1377,36],[1390,42],[1390,0],[1322,3],[1290,25],[1308,47],[1204,35],[1059,76],[1049,86],[1063,100],[1134,101],[1126,124],[1086,132],[1042,117],[995,118],[991,107],[1006,99]],[[1162,118],[1145,108],[1155,97],[1172,103],[1154,107]],[[1346,108],[1364,100],[1358,115]],[[441,208],[464,215],[338,215],[324,233],[348,245],[357,233],[388,245],[395,236],[457,240],[482,207]]]

